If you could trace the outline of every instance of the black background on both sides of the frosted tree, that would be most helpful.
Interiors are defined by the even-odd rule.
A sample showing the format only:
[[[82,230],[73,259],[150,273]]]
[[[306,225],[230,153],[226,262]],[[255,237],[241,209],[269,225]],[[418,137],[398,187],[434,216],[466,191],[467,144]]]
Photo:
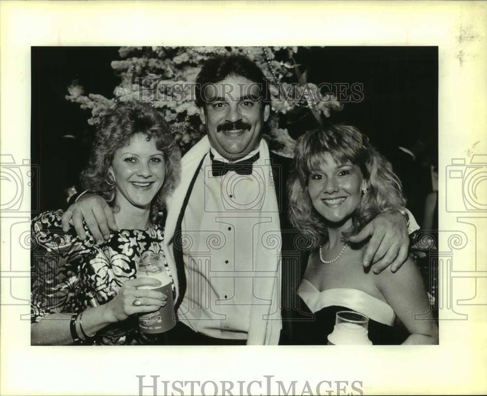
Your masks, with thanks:
[[[363,101],[345,104],[328,121],[358,127],[402,178],[431,188],[426,170],[437,156],[437,47],[312,47],[298,54],[309,82],[364,85]],[[65,99],[67,87],[77,79],[85,93],[112,98],[120,82],[111,67],[120,59],[118,47],[32,47],[31,57],[31,158],[41,169],[40,188],[32,189],[40,195],[32,199],[39,200],[41,211],[65,208],[63,190],[77,183],[94,133],[87,123],[90,111]],[[423,144],[414,169],[396,168],[397,146],[411,147],[418,138]]]

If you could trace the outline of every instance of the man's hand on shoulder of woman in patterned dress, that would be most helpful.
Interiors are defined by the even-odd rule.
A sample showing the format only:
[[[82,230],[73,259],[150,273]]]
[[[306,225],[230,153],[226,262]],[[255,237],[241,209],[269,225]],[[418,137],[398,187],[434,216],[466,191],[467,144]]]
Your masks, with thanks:
[[[62,216],[62,228],[66,232],[71,224],[75,226],[79,239],[86,238],[83,219],[98,244],[110,238],[110,229],[118,229],[112,209],[107,201],[95,194],[83,194]],[[70,222],[72,220],[72,222]]]

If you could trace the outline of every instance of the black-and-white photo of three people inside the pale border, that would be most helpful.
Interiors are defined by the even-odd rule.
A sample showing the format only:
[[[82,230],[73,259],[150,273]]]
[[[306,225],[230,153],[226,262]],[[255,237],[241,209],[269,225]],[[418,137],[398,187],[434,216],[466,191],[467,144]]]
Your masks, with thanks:
[[[33,47],[32,344],[438,343],[437,54]]]

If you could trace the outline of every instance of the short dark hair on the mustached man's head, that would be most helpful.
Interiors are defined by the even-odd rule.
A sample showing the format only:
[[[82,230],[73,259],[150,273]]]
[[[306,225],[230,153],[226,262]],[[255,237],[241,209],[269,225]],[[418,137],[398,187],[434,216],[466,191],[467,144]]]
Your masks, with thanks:
[[[196,77],[196,106],[204,107],[206,100],[204,91],[208,84],[215,84],[230,75],[242,76],[259,84],[263,104],[269,104],[271,96],[269,81],[262,70],[248,57],[243,55],[216,55],[206,60],[200,73]]]

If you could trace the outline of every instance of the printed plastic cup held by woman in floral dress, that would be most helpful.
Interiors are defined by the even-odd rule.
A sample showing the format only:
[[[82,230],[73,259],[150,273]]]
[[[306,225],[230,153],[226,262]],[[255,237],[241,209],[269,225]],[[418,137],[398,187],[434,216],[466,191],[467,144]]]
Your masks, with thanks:
[[[162,254],[146,253],[135,259],[136,277],[155,278],[160,286],[139,286],[138,289],[149,289],[164,293],[168,299],[166,305],[157,311],[139,316],[140,331],[147,334],[164,333],[176,325],[174,320],[174,301],[172,298],[172,280],[167,274]]]

